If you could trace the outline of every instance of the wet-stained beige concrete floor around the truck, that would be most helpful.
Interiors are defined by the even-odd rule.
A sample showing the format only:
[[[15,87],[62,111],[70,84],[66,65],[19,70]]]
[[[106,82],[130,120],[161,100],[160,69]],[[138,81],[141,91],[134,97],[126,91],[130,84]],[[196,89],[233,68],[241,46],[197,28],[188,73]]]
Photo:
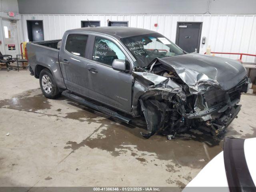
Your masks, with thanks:
[[[223,139],[198,130],[146,140],[143,128],[46,99],[26,70],[0,71],[0,83],[0,186],[181,187],[222,150]],[[256,96],[240,103],[223,137],[256,137]]]

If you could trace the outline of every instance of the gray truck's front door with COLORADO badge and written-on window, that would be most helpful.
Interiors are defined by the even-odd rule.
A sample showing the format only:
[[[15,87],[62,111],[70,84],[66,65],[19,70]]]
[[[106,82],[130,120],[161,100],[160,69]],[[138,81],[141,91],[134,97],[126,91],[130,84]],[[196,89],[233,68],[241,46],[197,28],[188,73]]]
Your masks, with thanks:
[[[132,75],[112,68],[114,59],[125,60],[124,52],[113,41],[96,36],[92,62],[88,64],[89,96],[125,112],[131,111]],[[127,68],[130,68],[127,61]]]

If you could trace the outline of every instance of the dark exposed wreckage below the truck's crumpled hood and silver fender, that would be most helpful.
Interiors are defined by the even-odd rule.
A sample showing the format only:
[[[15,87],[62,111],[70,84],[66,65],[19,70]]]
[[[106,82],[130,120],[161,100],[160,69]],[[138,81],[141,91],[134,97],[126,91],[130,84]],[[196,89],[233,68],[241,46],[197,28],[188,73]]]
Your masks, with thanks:
[[[243,87],[246,87],[246,84]],[[195,99],[194,108],[188,113],[187,100],[181,100],[177,93],[149,91],[140,99],[142,112],[148,125],[148,132],[142,135],[149,138],[154,133],[160,132],[173,136],[190,128],[204,126],[209,128],[213,136],[217,136],[237,117],[241,108],[241,105],[238,105],[241,92],[242,89],[225,92],[221,94],[224,99],[215,98],[215,102],[218,103],[214,105],[208,104],[205,94],[193,95],[197,99]],[[165,98],[169,99],[165,100]]]

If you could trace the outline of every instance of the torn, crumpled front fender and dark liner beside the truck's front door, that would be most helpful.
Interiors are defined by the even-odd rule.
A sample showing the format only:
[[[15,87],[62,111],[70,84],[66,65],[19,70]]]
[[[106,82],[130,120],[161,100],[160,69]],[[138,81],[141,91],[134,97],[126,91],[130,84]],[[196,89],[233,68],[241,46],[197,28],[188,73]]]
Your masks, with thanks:
[[[162,130],[166,111],[170,110],[168,103],[162,101],[171,102],[172,96],[175,94],[180,93],[181,98],[185,97],[185,94],[182,93],[182,87],[170,78],[147,72],[133,72],[133,76],[136,78],[135,88],[144,92],[139,101],[148,132],[141,134],[145,138],[149,138],[156,131]]]

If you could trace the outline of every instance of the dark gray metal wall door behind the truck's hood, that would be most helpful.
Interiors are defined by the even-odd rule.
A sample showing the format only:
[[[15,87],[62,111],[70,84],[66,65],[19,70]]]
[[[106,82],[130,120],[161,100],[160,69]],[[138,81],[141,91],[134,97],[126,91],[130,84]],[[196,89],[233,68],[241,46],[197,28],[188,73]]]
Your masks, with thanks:
[[[178,22],[176,44],[188,53],[199,53],[202,23]]]

